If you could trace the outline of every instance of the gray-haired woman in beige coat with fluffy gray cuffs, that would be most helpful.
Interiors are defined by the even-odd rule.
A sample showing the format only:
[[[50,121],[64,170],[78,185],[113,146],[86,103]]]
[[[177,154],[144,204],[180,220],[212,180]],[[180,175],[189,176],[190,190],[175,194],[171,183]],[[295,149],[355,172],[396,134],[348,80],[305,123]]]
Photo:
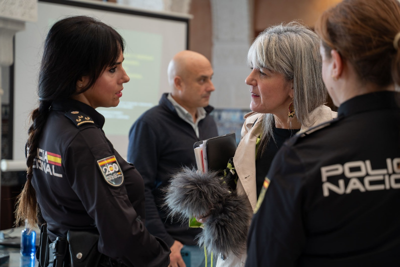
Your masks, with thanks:
[[[217,266],[244,266],[251,214],[283,142],[336,117],[323,105],[318,46],[317,35],[297,22],[260,33],[247,55],[252,112],[244,117],[240,143],[223,179],[185,170],[171,180],[166,197],[171,215],[194,215],[203,223],[199,245],[218,254]]]

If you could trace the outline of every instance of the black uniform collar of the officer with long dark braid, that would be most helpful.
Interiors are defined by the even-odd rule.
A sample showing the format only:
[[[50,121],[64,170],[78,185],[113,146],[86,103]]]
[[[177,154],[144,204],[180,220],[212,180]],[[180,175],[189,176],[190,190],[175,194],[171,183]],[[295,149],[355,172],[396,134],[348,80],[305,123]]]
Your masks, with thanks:
[[[93,120],[94,124],[99,128],[102,128],[105,122],[103,115],[98,113],[94,108],[73,99],[54,100],[51,103],[50,109],[64,112],[73,110],[81,111],[85,115],[89,116]]]

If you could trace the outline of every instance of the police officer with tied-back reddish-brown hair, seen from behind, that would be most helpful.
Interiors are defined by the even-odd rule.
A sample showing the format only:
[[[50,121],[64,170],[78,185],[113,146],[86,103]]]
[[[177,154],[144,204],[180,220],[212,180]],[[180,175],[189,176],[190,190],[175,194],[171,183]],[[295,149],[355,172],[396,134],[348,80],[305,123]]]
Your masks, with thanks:
[[[397,0],[344,0],[317,21],[338,118],[276,154],[247,267],[399,265],[399,17]]]

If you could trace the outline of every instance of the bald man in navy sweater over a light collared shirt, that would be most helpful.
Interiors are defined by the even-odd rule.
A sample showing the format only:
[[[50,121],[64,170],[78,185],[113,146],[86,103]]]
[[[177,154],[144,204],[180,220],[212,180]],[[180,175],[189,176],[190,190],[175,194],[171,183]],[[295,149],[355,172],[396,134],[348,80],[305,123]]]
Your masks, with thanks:
[[[170,248],[170,267],[204,266],[204,251],[196,247],[200,229],[188,228],[167,218],[162,208],[162,189],[171,174],[182,166],[195,166],[193,144],[217,136],[213,110],[208,105],[215,90],[208,59],[193,51],[177,53],[168,65],[170,93],[143,113],[129,131],[127,160],[134,164],[144,181],[145,225]],[[144,219],[144,218],[142,218]]]

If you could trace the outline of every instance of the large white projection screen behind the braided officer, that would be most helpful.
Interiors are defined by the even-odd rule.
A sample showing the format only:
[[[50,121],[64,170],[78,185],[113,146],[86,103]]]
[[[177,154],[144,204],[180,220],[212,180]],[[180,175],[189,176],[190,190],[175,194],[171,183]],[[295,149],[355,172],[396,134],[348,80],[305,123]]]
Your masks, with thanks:
[[[38,21],[27,22],[15,35],[13,91],[13,159],[24,159],[29,112],[37,106],[37,74],[49,27],[70,15],[90,15],[112,25],[124,37],[123,67],[130,81],[115,108],[96,109],[105,117],[103,130],[126,158],[133,122],[169,91],[166,69],[178,51],[187,49],[189,15],[148,13],[128,6],[89,0],[39,0]]]

